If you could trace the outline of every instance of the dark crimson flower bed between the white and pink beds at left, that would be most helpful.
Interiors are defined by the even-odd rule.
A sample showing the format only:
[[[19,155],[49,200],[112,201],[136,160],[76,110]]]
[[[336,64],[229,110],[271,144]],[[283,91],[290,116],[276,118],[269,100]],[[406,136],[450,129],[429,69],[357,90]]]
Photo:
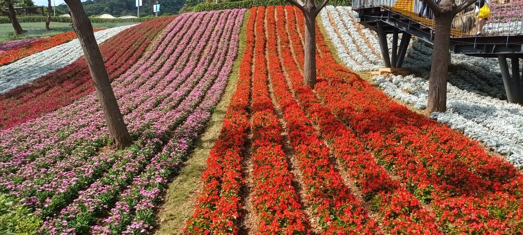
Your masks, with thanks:
[[[133,66],[157,33],[173,20],[160,18],[126,29],[100,45],[109,79]],[[74,32],[73,32],[74,34]],[[6,129],[35,119],[94,91],[84,58],[43,76],[32,83],[0,95],[0,128]]]

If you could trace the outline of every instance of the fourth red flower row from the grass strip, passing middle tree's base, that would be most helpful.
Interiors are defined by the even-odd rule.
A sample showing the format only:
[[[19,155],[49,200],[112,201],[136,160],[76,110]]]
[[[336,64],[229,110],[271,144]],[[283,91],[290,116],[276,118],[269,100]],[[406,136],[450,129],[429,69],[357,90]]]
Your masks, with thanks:
[[[317,40],[319,45],[322,42]],[[292,43],[292,48],[299,48],[301,46],[299,36],[294,36]],[[362,143],[351,133],[350,129],[321,105],[311,89],[301,86],[303,76],[292,61],[288,46],[282,44],[281,48],[283,63],[289,72],[294,93],[300,101],[302,109],[319,126],[321,134],[331,144],[334,156],[347,169],[365,199],[371,203],[372,208],[382,216],[386,230],[390,233],[402,234],[419,231],[438,234],[435,216],[423,209],[418,199],[402,188],[400,182],[391,179],[389,174],[376,163],[372,155],[365,152]],[[332,66],[336,62],[332,60],[329,53],[325,53],[325,56],[319,57],[316,63]],[[321,79],[321,75],[319,77]]]

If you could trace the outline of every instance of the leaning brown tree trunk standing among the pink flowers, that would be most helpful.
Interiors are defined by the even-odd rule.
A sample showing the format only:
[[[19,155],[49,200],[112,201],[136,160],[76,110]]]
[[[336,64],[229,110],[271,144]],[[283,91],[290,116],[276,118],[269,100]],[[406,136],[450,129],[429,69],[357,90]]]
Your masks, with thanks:
[[[93,77],[96,95],[104,111],[113,144],[120,149],[125,148],[131,144],[131,136],[126,124],[123,122],[122,113],[112,91],[111,82],[107,76],[107,70],[93,33],[93,26],[85,15],[80,0],[65,0],[65,3],[71,13],[74,31],[82,45],[89,71]]]

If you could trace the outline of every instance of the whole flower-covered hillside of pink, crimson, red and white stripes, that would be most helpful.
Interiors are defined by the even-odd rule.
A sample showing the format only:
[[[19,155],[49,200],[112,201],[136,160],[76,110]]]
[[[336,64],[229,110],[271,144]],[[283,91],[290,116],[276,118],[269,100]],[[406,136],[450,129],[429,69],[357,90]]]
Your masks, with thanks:
[[[0,65],[0,198],[15,205],[4,207],[41,219],[38,234],[159,233],[169,183],[184,184],[211,132],[201,183],[179,208],[192,214],[171,233],[522,234],[523,109],[502,100],[494,62],[452,55],[449,110],[427,118],[393,98],[425,108],[429,45],[410,45],[414,75],[374,76],[377,88],[349,70],[382,67],[376,34],[349,7],[317,20],[314,89],[297,7],[95,32],[133,140],[122,150],[77,40]]]

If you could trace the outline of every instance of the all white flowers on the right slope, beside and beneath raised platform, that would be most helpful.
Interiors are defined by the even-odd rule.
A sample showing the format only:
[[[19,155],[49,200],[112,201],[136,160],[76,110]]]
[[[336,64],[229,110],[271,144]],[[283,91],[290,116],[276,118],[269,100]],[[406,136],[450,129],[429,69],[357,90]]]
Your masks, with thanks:
[[[335,44],[342,61],[354,70],[375,70],[382,62],[370,61],[369,54],[380,56],[379,43],[375,33],[368,29],[354,30],[354,11],[350,7],[327,6],[322,11],[322,22]],[[343,23],[340,23],[342,22]],[[350,41],[362,49],[347,50]],[[368,48],[373,53],[369,53]],[[412,42],[407,51],[404,67],[415,75],[374,76],[372,79],[384,92],[417,109],[425,109],[428,94],[428,75],[432,49],[423,42]],[[448,124],[454,130],[465,133],[472,139],[506,156],[516,167],[523,167],[523,108],[507,103],[501,71],[495,58],[476,58],[452,54],[452,63],[459,70],[449,74],[447,95],[448,110],[433,113],[433,118]],[[361,63],[354,63],[358,61]],[[500,100],[502,99],[502,100]],[[504,99],[504,100],[503,100]]]

